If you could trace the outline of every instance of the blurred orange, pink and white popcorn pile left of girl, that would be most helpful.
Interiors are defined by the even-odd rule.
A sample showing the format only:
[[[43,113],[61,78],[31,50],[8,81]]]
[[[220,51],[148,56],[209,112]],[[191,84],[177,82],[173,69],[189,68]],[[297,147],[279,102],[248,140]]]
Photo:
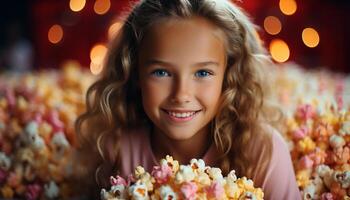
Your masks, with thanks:
[[[0,199],[66,199],[74,121],[92,75],[67,63],[62,71],[5,73],[0,80]]]

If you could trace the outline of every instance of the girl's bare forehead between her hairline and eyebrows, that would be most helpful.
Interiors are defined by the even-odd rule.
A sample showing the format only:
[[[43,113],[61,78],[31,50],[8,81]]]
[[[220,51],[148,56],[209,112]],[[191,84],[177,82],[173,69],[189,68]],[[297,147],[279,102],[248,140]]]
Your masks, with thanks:
[[[141,43],[141,61],[150,57],[171,62],[224,62],[225,37],[217,26],[201,17],[163,20],[150,27]]]

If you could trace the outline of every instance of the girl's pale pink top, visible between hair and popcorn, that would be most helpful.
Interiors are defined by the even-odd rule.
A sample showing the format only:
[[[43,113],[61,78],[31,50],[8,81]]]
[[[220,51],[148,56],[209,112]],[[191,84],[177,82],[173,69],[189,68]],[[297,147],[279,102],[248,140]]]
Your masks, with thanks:
[[[301,199],[287,145],[276,130],[271,129],[271,133],[273,141],[272,159],[267,172],[263,172],[259,167],[257,168],[253,176],[254,186],[263,189],[264,199]],[[256,159],[262,160],[264,148],[258,142],[253,146],[251,152],[256,155]],[[144,131],[124,134],[121,153],[122,166],[120,173],[122,177],[127,177],[139,165],[149,172],[152,171],[153,166],[158,165],[158,161],[152,152],[149,134]],[[216,155],[215,146],[212,145],[202,159],[206,165],[214,166]]]

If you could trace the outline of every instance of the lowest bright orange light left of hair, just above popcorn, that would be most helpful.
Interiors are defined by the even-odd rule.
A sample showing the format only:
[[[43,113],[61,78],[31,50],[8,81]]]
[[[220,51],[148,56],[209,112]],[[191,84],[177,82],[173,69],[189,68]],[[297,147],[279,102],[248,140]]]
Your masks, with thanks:
[[[90,51],[90,70],[94,75],[102,71],[102,64],[107,53],[107,47],[103,44],[96,44]]]

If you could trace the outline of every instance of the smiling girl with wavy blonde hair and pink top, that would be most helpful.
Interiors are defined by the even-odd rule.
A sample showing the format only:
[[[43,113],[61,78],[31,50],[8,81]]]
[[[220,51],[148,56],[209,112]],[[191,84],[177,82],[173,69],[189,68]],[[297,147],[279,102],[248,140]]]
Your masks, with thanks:
[[[253,179],[266,199],[300,199],[289,151],[270,125],[266,65],[254,25],[229,1],[137,3],[77,120],[84,165],[107,187],[110,175],[151,171],[166,155],[202,158]]]

